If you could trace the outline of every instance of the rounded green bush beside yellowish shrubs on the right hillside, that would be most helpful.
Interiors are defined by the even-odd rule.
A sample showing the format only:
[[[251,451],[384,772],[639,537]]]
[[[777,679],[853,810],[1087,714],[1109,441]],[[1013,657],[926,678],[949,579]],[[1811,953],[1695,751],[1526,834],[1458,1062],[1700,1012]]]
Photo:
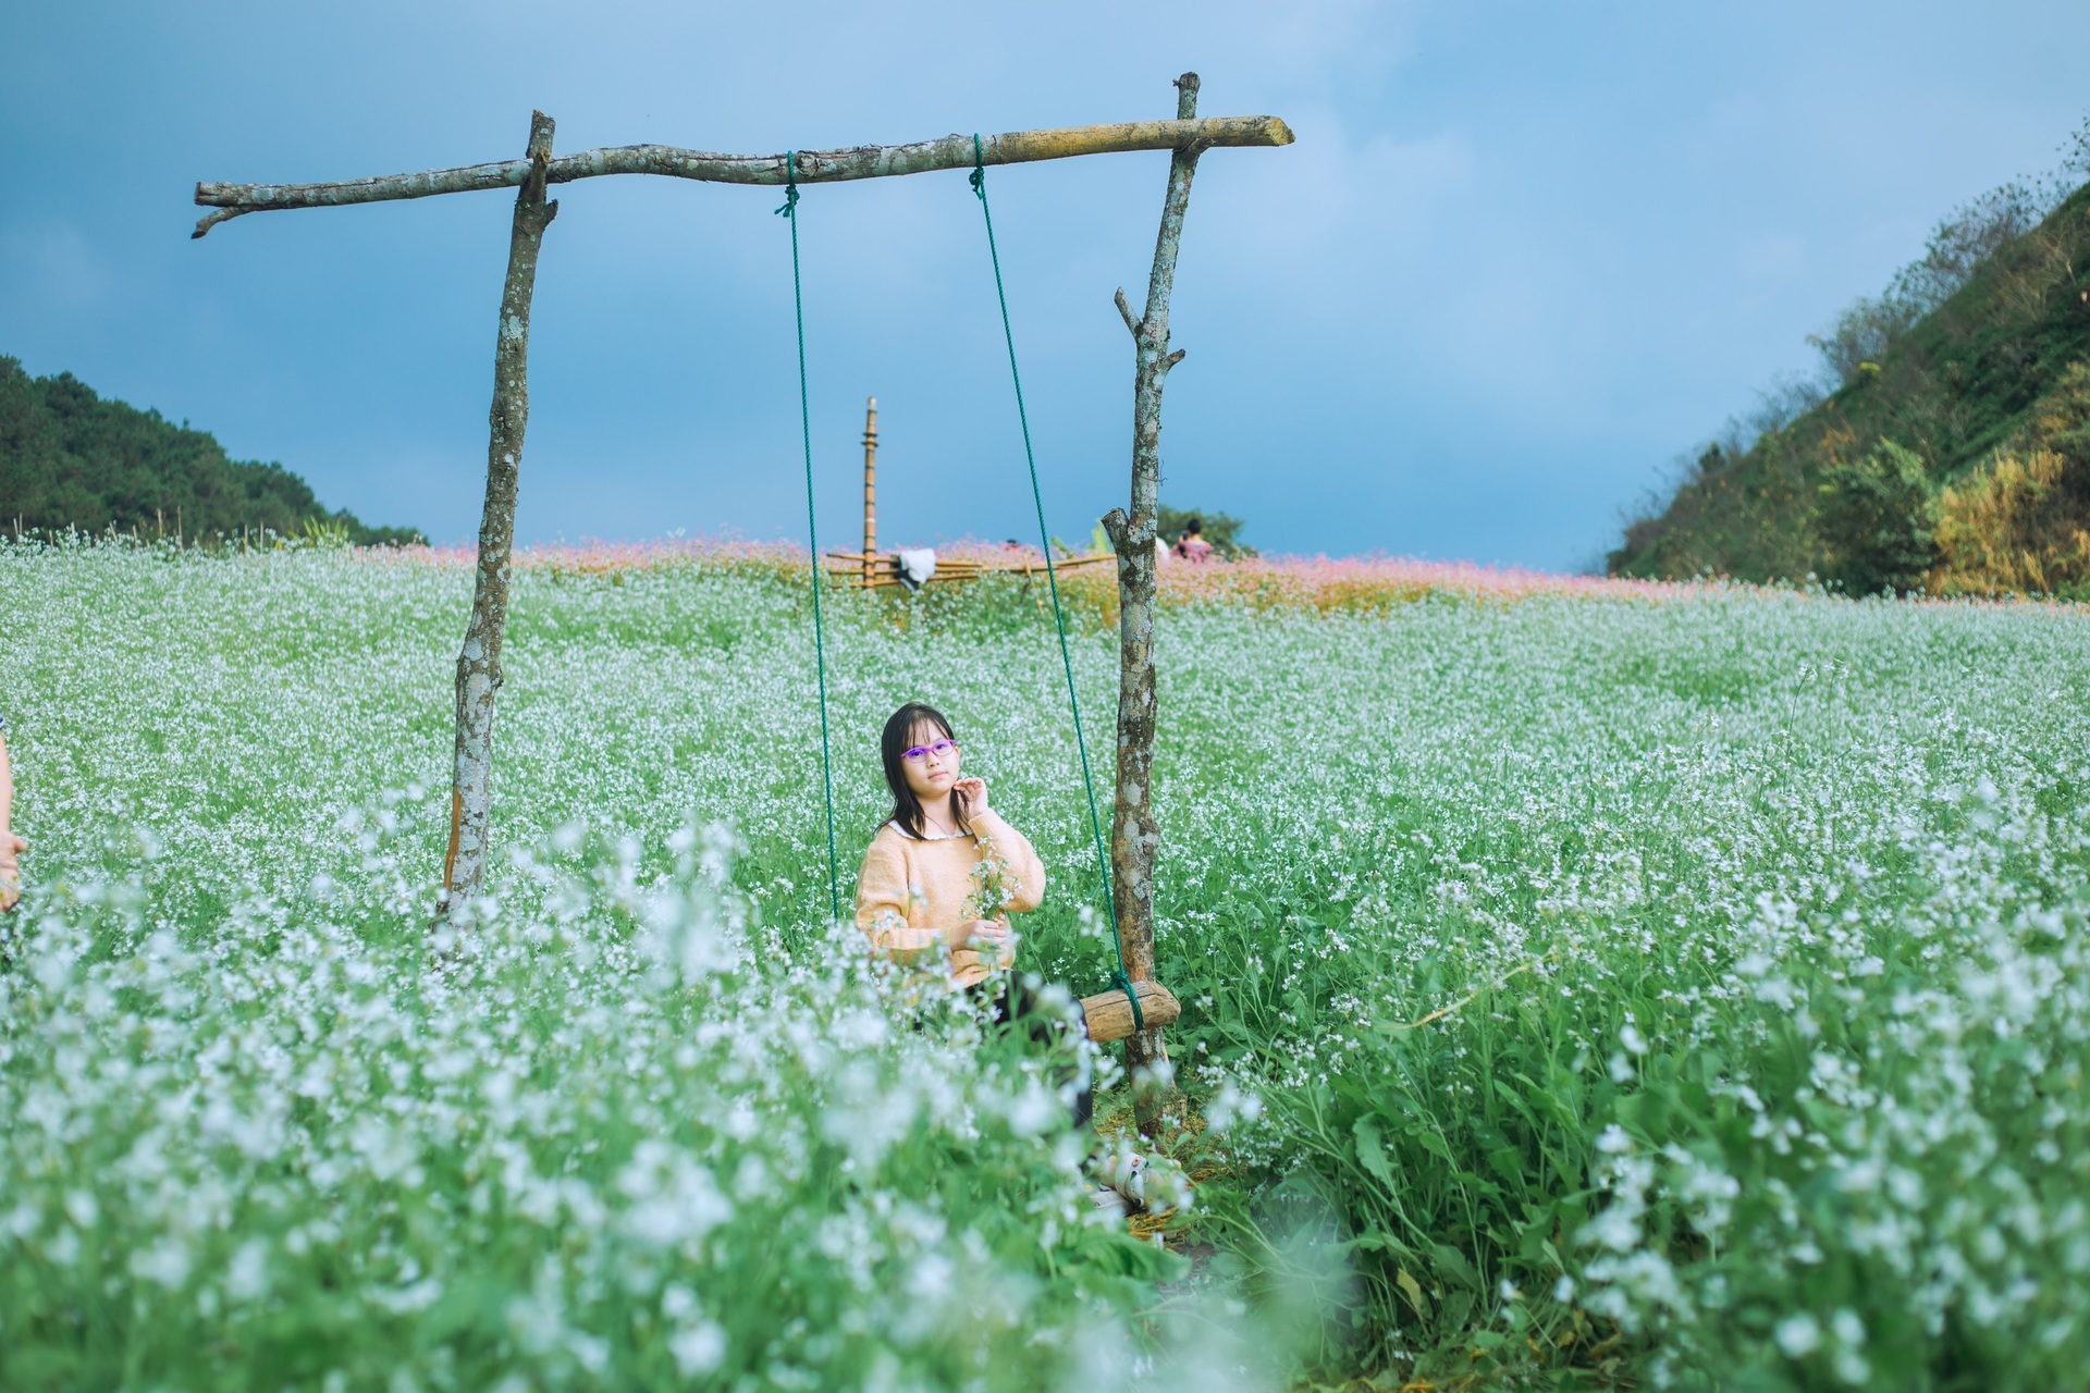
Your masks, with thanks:
[[[1825,468],[1818,493],[1814,528],[1829,558],[1825,581],[1852,595],[1921,589],[1937,558],[1923,455],[1881,441],[1858,459]]]

